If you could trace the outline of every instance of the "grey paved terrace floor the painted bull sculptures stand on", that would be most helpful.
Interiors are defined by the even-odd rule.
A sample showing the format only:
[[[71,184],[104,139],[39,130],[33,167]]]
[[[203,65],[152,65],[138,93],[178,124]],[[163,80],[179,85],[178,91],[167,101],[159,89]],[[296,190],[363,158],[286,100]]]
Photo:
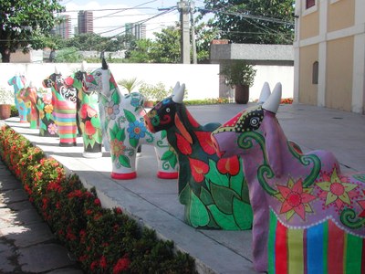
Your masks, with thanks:
[[[224,104],[192,106],[189,110],[203,124],[227,121],[246,107]],[[365,170],[364,115],[295,104],[280,106],[277,118],[288,139],[297,142],[304,152],[325,149],[338,157],[343,171]],[[142,148],[138,177],[118,181],[110,179],[109,153],[103,153],[99,159],[82,157],[81,138],[77,147],[62,148],[57,138],[39,137],[36,130],[30,130],[16,119],[6,123],[56,158],[69,172],[77,173],[87,187],[95,186],[103,206],[118,205],[142,225],[155,229],[160,237],[172,239],[177,248],[195,258],[201,273],[255,273],[250,231],[198,230],[183,222],[177,181],[156,178],[157,163],[152,147]]]

